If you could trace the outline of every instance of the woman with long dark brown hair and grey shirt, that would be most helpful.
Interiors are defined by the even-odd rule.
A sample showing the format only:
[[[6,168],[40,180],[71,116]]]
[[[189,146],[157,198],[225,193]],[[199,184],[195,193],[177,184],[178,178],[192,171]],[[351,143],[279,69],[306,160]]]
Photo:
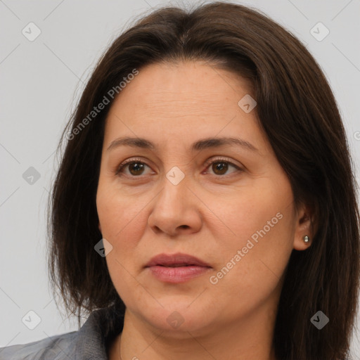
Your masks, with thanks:
[[[90,316],[0,359],[350,356],[355,180],[292,34],[237,4],[153,11],[99,60],[69,126],[49,269]]]

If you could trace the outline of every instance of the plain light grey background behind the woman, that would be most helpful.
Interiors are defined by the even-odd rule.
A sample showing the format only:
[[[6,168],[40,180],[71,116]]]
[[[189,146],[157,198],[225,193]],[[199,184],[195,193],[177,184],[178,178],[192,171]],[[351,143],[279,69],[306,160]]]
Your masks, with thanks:
[[[359,174],[360,1],[238,3],[269,14],[307,45],[335,93]],[[58,313],[47,277],[46,198],[57,168],[56,146],[96,60],[134,16],[165,4],[0,0],[0,347],[77,330],[75,319]],[[22,34],[30,22],[41,30],[34,41]],[[322,41],[310,32],[319,22],[330,30]],[[34,184],[23,179],[29,167],[41,175]],[[30,310],[41,318],[34,330],[21,320]],[[360,359],[359,330],[352,351]]]

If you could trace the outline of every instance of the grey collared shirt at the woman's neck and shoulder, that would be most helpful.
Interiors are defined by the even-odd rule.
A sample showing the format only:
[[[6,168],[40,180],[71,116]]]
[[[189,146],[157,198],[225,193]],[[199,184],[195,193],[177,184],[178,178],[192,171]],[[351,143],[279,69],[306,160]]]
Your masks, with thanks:
[[[124,318],[113,307],[93,311],[77,331],[0,348],[0,360],[108,360],[108,345]]]

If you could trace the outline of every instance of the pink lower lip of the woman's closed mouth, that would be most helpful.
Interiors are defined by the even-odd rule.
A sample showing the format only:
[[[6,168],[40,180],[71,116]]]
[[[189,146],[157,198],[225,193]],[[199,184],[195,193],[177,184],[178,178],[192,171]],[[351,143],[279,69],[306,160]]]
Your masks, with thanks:
[[[155,278],[166,283],[184,283],[185,281],[196,278],[205,274],[210,270],[208,266],[150,266],[148,269],[152,272]]]

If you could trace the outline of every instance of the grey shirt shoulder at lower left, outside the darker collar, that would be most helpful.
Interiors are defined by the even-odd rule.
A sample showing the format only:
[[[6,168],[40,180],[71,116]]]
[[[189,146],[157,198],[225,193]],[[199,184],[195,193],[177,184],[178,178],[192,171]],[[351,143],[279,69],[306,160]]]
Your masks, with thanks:
[[[0,360],[68,360],[74,354],[77,331],[0,348]]]

